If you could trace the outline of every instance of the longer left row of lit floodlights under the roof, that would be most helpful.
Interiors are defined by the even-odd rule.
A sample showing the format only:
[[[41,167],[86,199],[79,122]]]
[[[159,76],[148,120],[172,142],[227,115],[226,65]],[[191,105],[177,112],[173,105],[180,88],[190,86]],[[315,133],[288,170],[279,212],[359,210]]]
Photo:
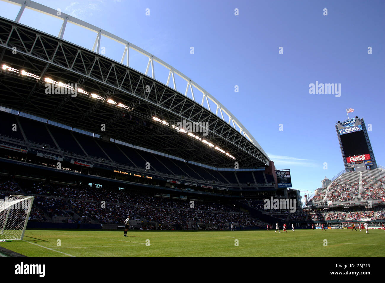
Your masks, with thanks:
[[[32,74],[30,72],[26,72],[25,70],[21,70],[20,71],[18,69],[12,68],[12,67],[7,66],[5,64],[2,65],[2,69],[3,70],[8,70],[9,72],[13,72],[13,73],[16,73],[16,74],[21,74],[21,75],[24,75],[24,76],[27,76],[27,77],[31,77],[33,79],[40,80],[40,77],[38,75]],[[53,79],[50,79],[50,78],[44,78],[44,82],[46,82],[48,84],[55,84],[58,87],[67,88],[67,89],[69,89],[72,92],[75,91],[75,88],[71,84],[64,84],[62,82],[57,82],[57,81],[55,81]],[[85,90],[80,89],[80,88],[77,89],[77,92],[79,92],[81,94],[84,94],[84,95],[87,95],[88,97],[91,97],[91,98],[94,98],[94,99],[102,100],[103,102],[105,101],[105,99],[103,97],[101,97],[100,95],[94,94],[94,93],[89,93],[88,91],[85,91]],[[117,107],[121,107],[123,109],[126,109],[127,111],[130,110],[130,107],[128,107],[127,105],[124,105],[124,104],[122,104],[120,102],[116,102],[113,99],[107,99],[107,103],[115,105]]]

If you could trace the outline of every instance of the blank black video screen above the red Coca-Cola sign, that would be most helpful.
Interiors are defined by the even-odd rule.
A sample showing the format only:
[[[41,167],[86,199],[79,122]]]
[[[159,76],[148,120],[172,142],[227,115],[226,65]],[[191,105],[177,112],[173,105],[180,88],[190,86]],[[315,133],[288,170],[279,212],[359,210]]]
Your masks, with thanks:
[[[341,135],[342,147],[345,157],[368,154],[368,144],[363,131],[352,132]]]

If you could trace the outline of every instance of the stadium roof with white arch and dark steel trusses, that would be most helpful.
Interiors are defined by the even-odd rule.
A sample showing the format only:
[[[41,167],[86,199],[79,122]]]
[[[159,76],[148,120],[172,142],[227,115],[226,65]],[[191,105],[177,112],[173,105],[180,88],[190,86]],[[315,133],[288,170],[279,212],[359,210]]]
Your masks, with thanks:
[[[0,105],[214,167],[234,168],[234,162],[240,168],[269,164],[267,154],[231,112],[167,63],[93,25],[64,13],[57,16],[52,8],[32,1],[7,2],[22,8],[16,21],[0,17]],[[24,8],[62,18],[59,36],[18,23]],[[96,52],[62,39],[69,21],[97,32]],[[121,62],[99,54],[102,35],[126,45]],[[146,74],[127,66],[130,49],[149,58]],[[154,79],[154,61],[169,69],[166,84]],[[150,67],[151,76],[147,75]],[[186,80],[185,94],[176,90],[175,75]],[[168,86],[170,80],[174,88]],[[192,87],[202,93],[201,103]],[[217,105],[216,112],[208,99]],[[207,123],[207,131],[186,134],[172,127],[183,121]]]

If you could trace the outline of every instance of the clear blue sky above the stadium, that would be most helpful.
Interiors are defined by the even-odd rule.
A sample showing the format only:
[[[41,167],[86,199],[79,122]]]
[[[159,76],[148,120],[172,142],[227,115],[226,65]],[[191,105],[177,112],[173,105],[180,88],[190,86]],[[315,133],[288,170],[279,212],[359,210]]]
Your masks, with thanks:
[[[385,1],[36,2],[118,35],[197,82],[242,122],[278,169],[291,169],[295,189],[313,192],[325,176],[344,169],[334,124],[347,118],[346,108],[372,124],[377,164],[385,166]],[[14,20],[18,10],[0,1],[0,16]],[[31,10],[20,22],[54,35],[62,23]],[[67,25],[64,39],[91,49],[95,34]],[[105,39],[101,46],[121,59],[121,46]],[[131,54],[130,65],[144,72],[147,60]],[[166,81],[160,66],[155,74]],[[309,94],[316,81],[341,84],[341,96]],[[186,85],[177,80],[177,88],[184,92]]]

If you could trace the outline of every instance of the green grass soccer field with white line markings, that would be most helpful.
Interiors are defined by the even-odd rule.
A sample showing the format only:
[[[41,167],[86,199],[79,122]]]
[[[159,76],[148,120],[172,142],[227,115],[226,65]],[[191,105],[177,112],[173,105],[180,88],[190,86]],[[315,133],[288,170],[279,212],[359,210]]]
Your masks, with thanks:
[[[383,230],[370,234],[346,229],[128,231],[127,235],[103,230],[27,230],[23,241],[0,246],[26,256],[385,256]],[[234,245],[236,239],[239,246]]]

